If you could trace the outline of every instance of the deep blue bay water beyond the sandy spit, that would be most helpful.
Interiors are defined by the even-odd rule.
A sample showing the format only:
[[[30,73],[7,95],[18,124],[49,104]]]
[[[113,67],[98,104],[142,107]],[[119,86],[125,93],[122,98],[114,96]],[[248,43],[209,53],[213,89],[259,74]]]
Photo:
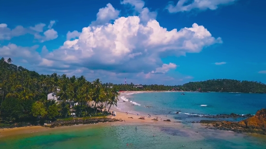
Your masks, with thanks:
[[[125,97],[141,105],[132,106],[135,111],[153,115],[169,115],[175,119],[187,121],[198,120],[200,118],[195,116],[203,114],[255,114],[257,110],[266,108],[266,94],[216,92],[184,92],[184,94],[152,92],[125,95]],[[174,113],[176,111],[181,112],[176,114]]]

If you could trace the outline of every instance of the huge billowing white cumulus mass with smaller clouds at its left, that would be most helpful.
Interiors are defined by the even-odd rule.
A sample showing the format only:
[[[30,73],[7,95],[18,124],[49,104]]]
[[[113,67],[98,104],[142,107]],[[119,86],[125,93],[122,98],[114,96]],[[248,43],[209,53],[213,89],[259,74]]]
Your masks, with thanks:
[[[15,47],[12,44],[0,47],[0,52],[12,49],[12,52],[5,51],[5,57],[13,57],[15,51],[34,53],[30,61],[38,62],[35,69],[39,72],[84,74],[86,77],[101,76],[112,80],[127,77],[135,82],[139,78],[172,81],[175,78],[165,74],[178,66],[174,63],[164,64],[162,56],[199,53],[204,47],[222,43],[220,37],[213,37],[207,28],[196,23],[179,30],[161,27],[156,20],[157,13],[144,7],[142,0],[123,0],[121,4],[130,5],[136,15],[119,17],[120,11],[108,3],[99,9],[97,19],[88,27],[82,28],[81,32],[69,31],[67,41],[58,49],[48,50],[44,46],[38,54],[34,50],[36,47],[12,48]],[[46,31],[44,24],[31,27],[35,39],[44,42],[57,38],[58,34],[52,28],[54,24],[51,21]],[[42,32],[43,35],[40,34]],[[28,61],[27,56],[21,55]]]

